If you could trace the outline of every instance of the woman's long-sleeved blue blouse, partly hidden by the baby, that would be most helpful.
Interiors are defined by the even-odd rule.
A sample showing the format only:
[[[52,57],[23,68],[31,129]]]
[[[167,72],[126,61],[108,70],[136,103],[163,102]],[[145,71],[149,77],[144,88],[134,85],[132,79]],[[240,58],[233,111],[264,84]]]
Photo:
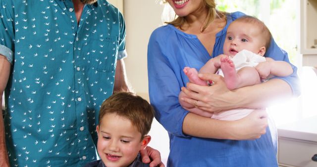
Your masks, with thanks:
[[[200,138],[182,132],[188,111],[180,106],[178,94],[189,82],[183,68],[199,70],[209,59],[222,54],[228,25],[242,15],[241,12],[227,15],[227,25],[217,33],[211,56],[195,35],[172,25],[159,27],[151,35],[148,45],[150,101],[156,109],[156,119],[169,134],[168,167],[277,167],[276,143],[272,142],[268,127],[260,139],[243,141]],[[274,41],[266,56],[289,62],[287,53]],[[292,67],[294,73],[280,79],[289,83],[293,93],[298,95],[297,69]]]

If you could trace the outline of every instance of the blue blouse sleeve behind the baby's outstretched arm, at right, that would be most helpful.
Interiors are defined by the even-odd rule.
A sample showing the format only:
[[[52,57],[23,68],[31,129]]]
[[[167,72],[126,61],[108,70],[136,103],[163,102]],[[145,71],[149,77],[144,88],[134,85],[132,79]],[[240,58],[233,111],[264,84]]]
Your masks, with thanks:
[[[299,78],[297,75],[297,67],[290,63],[287,52],[281,49],[280,47],[278,47],[274,39],[272,39],[270,46],[264,56],[270,57],[276,61],[286,61],[292,66],[293,74],[287,77],[273,77],[272,79],[281,79],[285,81],[291,86],[293,95],[299,96],[301,94],[301,90],[300,90]]]

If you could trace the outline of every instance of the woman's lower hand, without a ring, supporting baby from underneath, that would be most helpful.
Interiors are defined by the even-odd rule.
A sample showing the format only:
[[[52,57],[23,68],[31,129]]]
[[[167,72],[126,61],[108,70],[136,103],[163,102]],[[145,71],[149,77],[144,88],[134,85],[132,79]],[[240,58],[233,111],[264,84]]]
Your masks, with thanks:
[[[255,110],[247,117],[233,121],[232,139],[249,140],[260,138],[262,134],[265,134],[267,125],[267,113],[265,110]]]

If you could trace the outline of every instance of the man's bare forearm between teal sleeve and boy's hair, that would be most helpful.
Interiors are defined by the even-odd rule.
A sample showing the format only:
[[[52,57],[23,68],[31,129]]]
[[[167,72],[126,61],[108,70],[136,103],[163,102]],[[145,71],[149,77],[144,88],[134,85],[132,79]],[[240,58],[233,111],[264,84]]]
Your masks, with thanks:
[[[120,59],[120,60],[117,60],[113,91],[118,91],[122,89],[126,91],[131,91],[131,86],[128,83],[128,80],[126,77],[124,61],[123,59]]]

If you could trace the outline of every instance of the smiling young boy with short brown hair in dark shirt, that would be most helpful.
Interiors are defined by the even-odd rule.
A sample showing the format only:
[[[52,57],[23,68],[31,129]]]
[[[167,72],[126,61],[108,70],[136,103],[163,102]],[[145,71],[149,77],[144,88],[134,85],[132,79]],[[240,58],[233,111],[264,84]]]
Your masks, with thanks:
[[[131,92],[115,92],[102,104],[97,125],[97,151],[101,160],[86,167],[149,167],[139,151],[151,140],[154,109]]]

